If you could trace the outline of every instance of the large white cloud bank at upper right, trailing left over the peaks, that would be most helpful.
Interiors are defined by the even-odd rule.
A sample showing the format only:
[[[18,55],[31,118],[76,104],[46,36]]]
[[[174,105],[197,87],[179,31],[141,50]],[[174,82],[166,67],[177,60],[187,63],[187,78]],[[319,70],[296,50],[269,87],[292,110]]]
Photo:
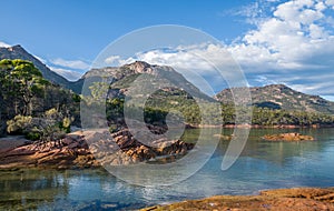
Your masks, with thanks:
[[[264,3],[262,6],[261,3]],[[106,63],[121,66],[143,60],[175,69],[214,72],[215,63],[230,61],[228,53],[242,66],[250,86],[284,83],[298,91],[334,96],[334,0],[259,0],[239,16],[255,29],[232,43],[180,46],[168,50],[138,52],[131,58],[111,56]],[[227,58],[227,59],[226,59]],[[219,86],[218,83],[213,84]],[[220,80],[222,81],[222,80]],[[217,89],[222,89],[222,86]]]

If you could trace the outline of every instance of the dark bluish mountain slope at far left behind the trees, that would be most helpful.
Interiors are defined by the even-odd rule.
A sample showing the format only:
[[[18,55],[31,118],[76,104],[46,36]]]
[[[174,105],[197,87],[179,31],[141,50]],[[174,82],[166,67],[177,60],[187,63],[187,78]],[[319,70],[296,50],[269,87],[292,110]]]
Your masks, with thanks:
[[[50,70],[46,64],[43,64],[36,57],[27,52],[19,44],[9,48],[0,48],[0,60],[2,59],[22,59],[31,61],[35,64],[35,67],[37,67],[42,72],[45,79],[53,83],[60,84],[67,89],[72,89],[75,87],[70,81]]]

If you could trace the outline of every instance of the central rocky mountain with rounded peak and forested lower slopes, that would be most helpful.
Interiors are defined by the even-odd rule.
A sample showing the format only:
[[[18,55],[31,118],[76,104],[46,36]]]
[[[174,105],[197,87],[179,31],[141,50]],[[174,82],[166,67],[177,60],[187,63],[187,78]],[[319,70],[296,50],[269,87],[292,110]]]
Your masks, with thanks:
[[[101,76],[111,77],[111,84],[94,82],[96,77]],[[150,125],[161,127],[159,130],[166,129],[167,114],[171,119],[177,120],[179,112],[183,113],[183,118],[188,124],[196,125],[200,123],[202,115],[198,102],[207,107],[210,105],[209,108],[213,110],[210,113],[219,117],[218,109],[216,109],[219,104],[215,103],[217,107],[214,107],[215,104],[212,103],[217,101],[203,93],[171,67],[136,61],[121,67],[92,69],[82,77],[81,82],[84,80],[90,82],[87,87],[90,89],[90,92],[86,92],[87,96],[84,96],[84,99],[88,99],[88,102],[98,102],[98,99],[101,99],[99,96],[100,91],[106,89],[106,86],[109,86],[106,100],[107,119],[108,123],[114,128],[122,128],[125,125],[124,108],[129,112],[134,112],[131,118],[135,121],[141,121],[141,117],[138,113],[144,111],[145,122]],[[130,100],[128,101],[129,104],[125,105],[127,97]],[[136,103],[144,99],[145,104]],[[169,111],[170,113],[168,113]],[[208,119],[213,120],[213,118],[207,118],[205,121],[212,122]],[[219,120],[219,118],[216,119]]]

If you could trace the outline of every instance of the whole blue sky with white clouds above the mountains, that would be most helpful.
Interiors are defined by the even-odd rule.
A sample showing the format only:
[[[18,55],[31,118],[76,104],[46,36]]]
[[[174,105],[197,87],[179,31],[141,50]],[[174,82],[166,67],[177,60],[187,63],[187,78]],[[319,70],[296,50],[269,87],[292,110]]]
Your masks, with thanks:
[[[219,57],[227,51],[249,86],[284,83],[334,100],[333,10],[334,0],[11,0],[1,1],[0,46],[21,44],[51,70],[76,80],[120,37],[179,24],[220,44],[155,49],[121,59],[112,54],[108,61],[143,59],[177,67],[190,58],[188,66],[197,67],[194,52]]]

